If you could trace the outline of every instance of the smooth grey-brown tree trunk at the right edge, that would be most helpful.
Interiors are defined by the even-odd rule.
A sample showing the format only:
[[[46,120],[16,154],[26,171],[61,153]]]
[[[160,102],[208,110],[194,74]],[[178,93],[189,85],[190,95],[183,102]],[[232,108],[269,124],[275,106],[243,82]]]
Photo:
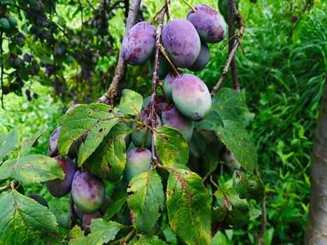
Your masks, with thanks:
[[[312,148],[311,197],[305,244],[327,244],[327,82]]]

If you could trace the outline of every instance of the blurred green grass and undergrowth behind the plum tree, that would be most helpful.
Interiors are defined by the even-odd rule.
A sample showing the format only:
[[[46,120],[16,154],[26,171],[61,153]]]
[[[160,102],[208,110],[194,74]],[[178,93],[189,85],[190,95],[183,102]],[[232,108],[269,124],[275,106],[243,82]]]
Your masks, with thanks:
[[[59,1],[60,2],[60,1]],[[83,2],[83,1],[82,1]],[[98,1],[91,1],[96,4]],[[217,1],[189,1],[205,3],[217,8]],[[57,4],[57,12],[67,25],[78,28],[78,15],[69,15],[64,1]],[[142,1],[145,20],[151,20],[160,1]],[[266,244],[302,244],[309,204],[309,167],[315,121],[326,76],[326,3],[313,1],[307,11],[300,0],[258,0],[251,3],[241,0],[239,10],[246,21],[242,41],[245,54],[237,52],[237,72],[250,111],[256,114],[249,128],[256,143],[259,170],[266,186],[267,232]],[[85,8],[87,4],[85,3]],[[68,9],[67,9],[68,8]],[[172,1],[174,18],[185,18],[188,7]],[[87,12],[85,14],[88,14]],[[298,22],[291,22],[293,15]],[[120,41],[124,31],[123,10],[116,10],[109,20],[109,32],[113,36],[113,50],[109,57],[99,59],[97,70],[111,71],[116,64]],[[227,49],[222,50],[226,39],[210,45],[211,61],[206,69],[197,72],[209,90],[221,75]],[[74,72],[67,67],[64,76]],[[96,84],[99,77],[92,80]],[[109,83],[106,84],[109,86]],[[230,76],[223,86],[231,87]],[[53,87],[41,85],[32,79],[24,88],[37,91],[38,99],[27,102],[25,96],[8,94],[4,97],[4,109],[0,109],[0,134],[18,127],[22,139],[34,134],[40,127],[48,131],[34,148],[36,153],[47,153],[47,141],[64,115],[74,103],[73,99],[56,97]],[[148,67],[129,66],[127,87],[146,97],[151,92],[151,74]],[[88,90],[88,87],[85,87]],[[82,91],[83,92],[83,91]],[[83,103],[94,101],[102,94],[96,90]],[[50,200],[50,206],[61,207],[43,186],[31,186],[28,192],[39,192]],[[62,205],[64,207],[64,205]],[[64,210],[62,210],[64,212]],[[218,232],[217,244],[256,244],[254,234],[260,229],[260,220],[253,221],[242,230]]]

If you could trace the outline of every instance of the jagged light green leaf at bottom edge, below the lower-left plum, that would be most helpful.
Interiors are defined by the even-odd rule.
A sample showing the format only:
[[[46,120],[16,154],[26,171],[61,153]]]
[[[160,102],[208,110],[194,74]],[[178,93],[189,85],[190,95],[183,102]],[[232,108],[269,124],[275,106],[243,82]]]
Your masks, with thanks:
[[[69,244],[78,245],[102,245],[115,239],[123,225],[115,221],[106,222],[102,218],[92,219],[91,234],[84,237],[81,228],[75,226],[69,233]]]

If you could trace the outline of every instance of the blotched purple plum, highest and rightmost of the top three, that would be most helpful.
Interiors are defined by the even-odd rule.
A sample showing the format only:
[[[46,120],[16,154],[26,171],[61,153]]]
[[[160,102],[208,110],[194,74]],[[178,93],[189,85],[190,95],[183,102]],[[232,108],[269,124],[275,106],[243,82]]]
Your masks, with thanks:
[[[194,6],[197,10],[188,12],[188,20],[194,25],[202,41],[218,43],[225,38],[226,24],[217,10],[204,4]]]

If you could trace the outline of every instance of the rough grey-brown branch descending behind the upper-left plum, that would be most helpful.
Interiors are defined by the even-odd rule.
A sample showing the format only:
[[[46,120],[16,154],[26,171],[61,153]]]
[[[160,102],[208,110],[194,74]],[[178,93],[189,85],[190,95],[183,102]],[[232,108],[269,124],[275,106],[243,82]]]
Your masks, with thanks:
[[[137,13],[139,12],[140,4],[141,4],[141,0],[132,0],[130,11],[128,13],[127,25],[126,25],[124,36],[126,35],[127,31],[130,30],[137,22]],[[127,64],[123,60],[122,50],[120,49],[118,64],[116,66],[115,76],[113,77],[113,81],[111,82],[111,85],[109,89],[106,91],[106,93],[97,100],[97,103],[104,103],[104,104],[111,103],[111,105],[113,106],[113,99],[115,99],[118,92],[120,92],[119,85],[120,82],[125,79],[126,71],[127,71]]]

